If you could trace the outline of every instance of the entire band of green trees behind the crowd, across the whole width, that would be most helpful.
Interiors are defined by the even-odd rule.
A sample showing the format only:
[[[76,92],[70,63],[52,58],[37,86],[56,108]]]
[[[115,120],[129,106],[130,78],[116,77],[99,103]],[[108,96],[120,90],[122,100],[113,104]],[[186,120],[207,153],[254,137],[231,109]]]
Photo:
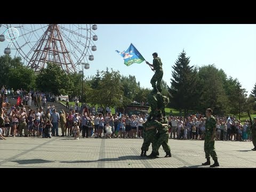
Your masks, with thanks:
[[[170,99],[168,107],[184,111],[185,116],[191,110],[204,113],[209,107],[218,115],[239,116],[247,109],[256,110],[256,83],[247,95],[238,79],[228,77],[222,69],[214,65],[191,66],[189,62],[183,50],[172,65],[171,86],[162,81],[162,94]],[[147,103],[151,91],[141,87],[135,76],[123,76],[118,70],[97,70],[95,75],[83,78],[82,74],[67,74],[59,65],[47,63],[46,68],[35,74],[23,66],[20,58],[0,57],[1,86],[7,85],[14,90],[39,90],[73,98],[82,95],[82,81],[83,102],[103,108],[125,107],[132,101]]]

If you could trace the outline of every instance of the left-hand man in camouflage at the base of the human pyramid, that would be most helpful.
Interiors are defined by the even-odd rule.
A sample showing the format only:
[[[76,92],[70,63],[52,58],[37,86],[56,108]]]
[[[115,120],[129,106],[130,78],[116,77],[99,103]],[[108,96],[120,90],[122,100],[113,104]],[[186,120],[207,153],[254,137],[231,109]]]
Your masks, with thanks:
[[[140,156],[147,156],[147,151],[150,146],[150,143],[155,142],[156,139],[156,129],[151,129],[146,131],[147,127],[150,127],[154,122],[146,121],[142,124],[143,126],[143,144],[141,147],[141,154]],[[159,155],[159,154],[158,154]]]

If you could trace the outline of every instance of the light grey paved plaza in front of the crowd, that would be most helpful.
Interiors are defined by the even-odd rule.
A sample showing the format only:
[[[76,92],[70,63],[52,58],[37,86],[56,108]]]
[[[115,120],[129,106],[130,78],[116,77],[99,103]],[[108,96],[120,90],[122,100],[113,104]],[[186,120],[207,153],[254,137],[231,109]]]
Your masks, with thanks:
[[[209,167],[201,166],[205,162],[204,141],[169,139],[172,157],[164,158],[161,147],[159,158],[155,159],[140,157],[142,142],[143,139],[8,137],[0,140],[0,167]],[[216,141],[215,148],[220,167],[256,167],[252,142]],[[150,153],[151,146],[147,154]]]

